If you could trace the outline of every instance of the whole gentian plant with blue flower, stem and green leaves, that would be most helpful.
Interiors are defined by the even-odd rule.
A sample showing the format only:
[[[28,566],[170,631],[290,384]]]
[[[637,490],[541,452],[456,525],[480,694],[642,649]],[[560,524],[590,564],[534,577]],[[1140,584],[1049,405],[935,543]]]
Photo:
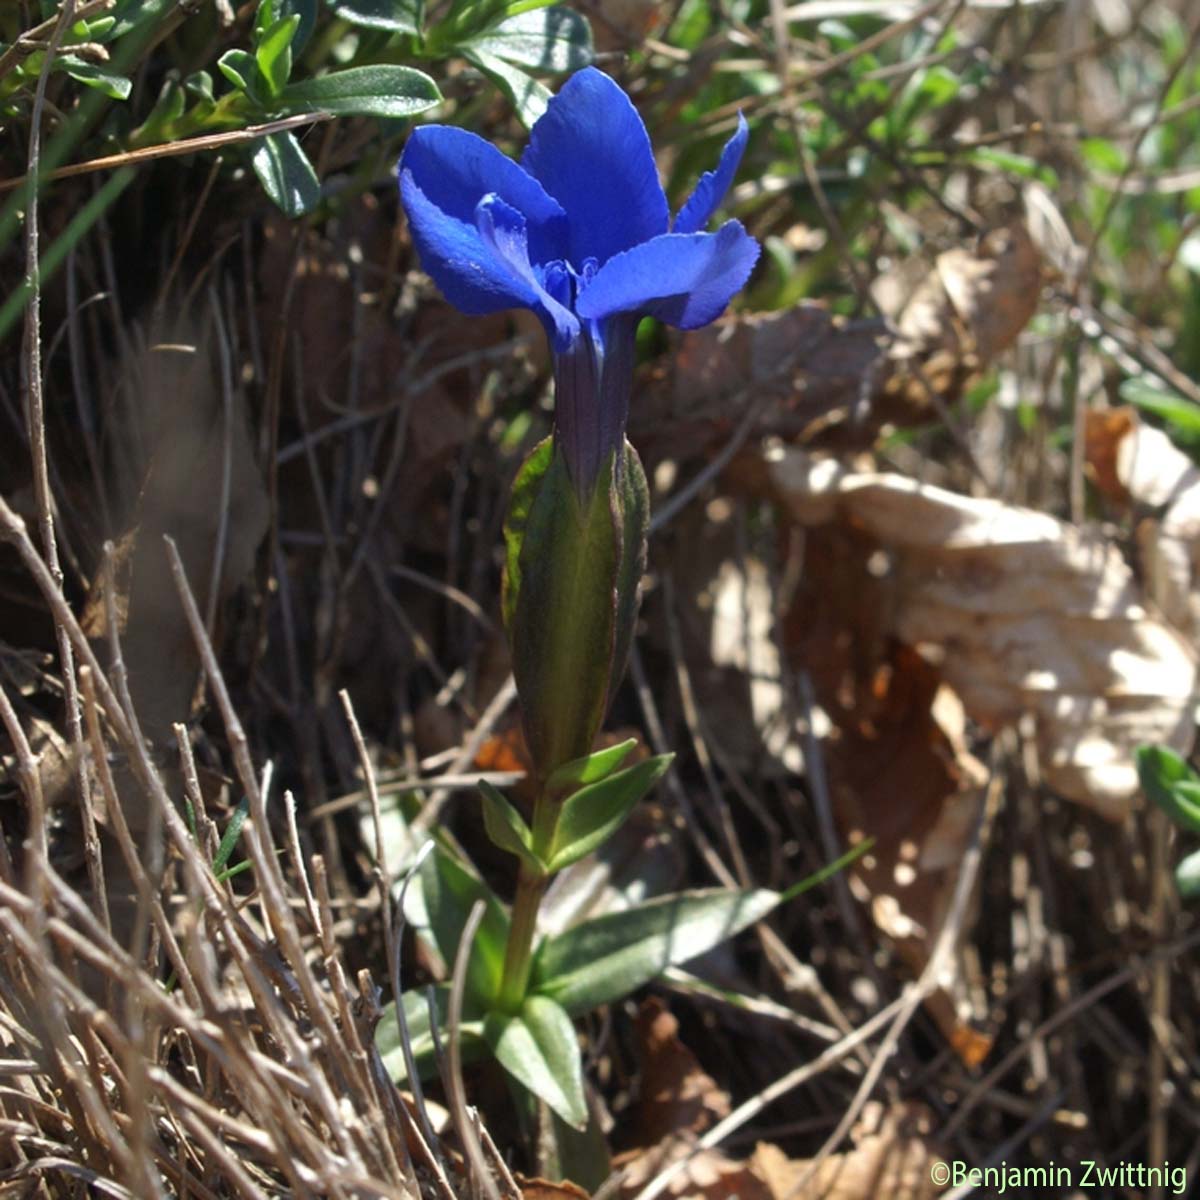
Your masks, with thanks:
[[[473,133],[416,130],[400,193],[424,269],[458,308],[530,308],[554,358],[553,433],[514,485],[503,614],[535,775],[530,818],[481,784],[492,840],[517,859],[511,912],[445,847],[421,869],[421,924],[454,961],[476,900],[467,1049],[490,1050],[566,1124],[588,1121],[571,1019],[764,916],[781,896],[704,890],[660,896],[538,938],[554,872],[600,846],[670,766],[624,767],[632,740],[593,752],[624,670],[646,562],[649,498],[625,440],[635,334],[643,316],[679,329],[716,318],[745,283],[757,242],[737,221],[706,226],[745,149],[737,132],[673,221],[646,127],[607,76],[586,68],[553,97],[520,163]],[[445,989],[433,1016],[445,1006]],[[425,997],[402,1012],[418,1066],[431,1055]],[[442,1014],[444,1016],[444,1012]],[[403,1074],[396,1022],[379,1044]]]

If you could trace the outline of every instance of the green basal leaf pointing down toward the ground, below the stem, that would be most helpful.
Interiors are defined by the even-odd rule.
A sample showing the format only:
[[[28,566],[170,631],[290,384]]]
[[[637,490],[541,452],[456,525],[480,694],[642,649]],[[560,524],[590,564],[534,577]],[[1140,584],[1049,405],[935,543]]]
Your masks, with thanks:
[[[516,1015],[488,1013],[484,1038],[497,1062],[571,1128],[587,1126],[580,1043],[559,1004],[545,996],[528,996]]]

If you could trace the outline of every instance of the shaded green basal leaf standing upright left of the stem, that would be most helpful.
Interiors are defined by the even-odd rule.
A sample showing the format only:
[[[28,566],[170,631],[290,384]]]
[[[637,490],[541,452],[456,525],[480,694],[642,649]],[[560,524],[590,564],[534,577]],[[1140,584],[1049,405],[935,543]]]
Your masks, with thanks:
[[[476,900],[485,902],[484,919],[467,964],[466,995],[472,1003],[486,1008],[500,990],[508,914],[492,889],[440,846],[421,864],[419,878],[428,934],[448,966],[454,964],[472,907]]]

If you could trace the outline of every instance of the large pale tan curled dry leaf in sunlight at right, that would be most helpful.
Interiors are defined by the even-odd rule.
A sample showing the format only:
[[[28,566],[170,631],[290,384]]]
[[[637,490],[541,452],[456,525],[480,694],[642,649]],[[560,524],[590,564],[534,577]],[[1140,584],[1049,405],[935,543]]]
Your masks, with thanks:
[[[1043,776],[1061,794],[1120,820],[1138,794],[1134,748],[1188,748],[1195,652],[1103,538],[800,451],[772,472],[794,520],[877,544],[884,630],[936,662],[971,718],[1034,718]]]

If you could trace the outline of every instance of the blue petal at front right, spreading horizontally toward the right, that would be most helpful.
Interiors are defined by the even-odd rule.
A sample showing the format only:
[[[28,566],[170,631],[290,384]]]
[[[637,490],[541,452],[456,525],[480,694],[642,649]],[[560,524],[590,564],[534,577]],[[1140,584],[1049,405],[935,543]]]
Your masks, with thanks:
[[[575,311],[586,320],[637,312],[698,329],[724,312],[757,259],[758,242],[738,221],[716,233],[666,233],[601,266]]]

